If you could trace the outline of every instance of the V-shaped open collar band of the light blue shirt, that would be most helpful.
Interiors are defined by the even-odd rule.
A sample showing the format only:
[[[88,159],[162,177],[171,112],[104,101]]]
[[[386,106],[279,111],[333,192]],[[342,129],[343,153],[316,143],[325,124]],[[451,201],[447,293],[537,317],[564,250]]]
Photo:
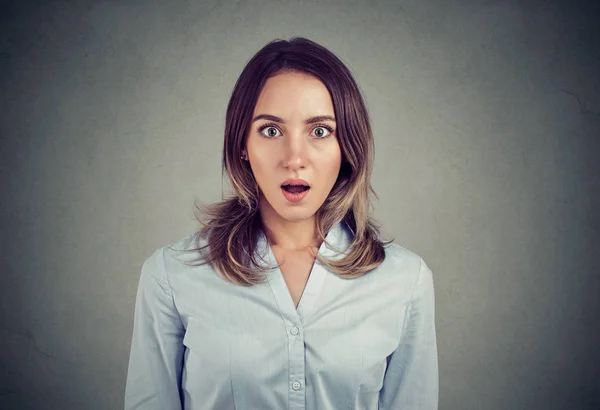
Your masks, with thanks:
[[[327,239],[334,247],[339,246],[340,241],[338,239],[340,236],[340,228],[340,224],[334,225],[329,230],[327,235],[325,235],[325,239]],[[287,318],[293,322],[298,320],[300,322],[304,322],[314,309],[316,299],[323,288],[323,284],[328,273],[327,270],[321,264],[319,264],[317,260],[314,261],[308,275],[306,285],[304,286],[304,291],[302,292],[300,300],[298,301],[298,307],[296,308],[291,292],[287,286],[287,283],[285,282],[285,278],[283,277],[283,273],[279,268],[279,263],[277,262],[277,259],[273,253],[273,249],[271,248],[271,245],[269,244],[264,233],[261,234],[261,241],[263,247],[266,247],[267,249],[266,262],[269,265],[275,266],[273,270],[267,273],[267,279],[281,314],[287,316]],[[318,254],[326,257],[332,257],[335,254],[335,251],[329,248],[325,241],[323,241],[319,247]]]

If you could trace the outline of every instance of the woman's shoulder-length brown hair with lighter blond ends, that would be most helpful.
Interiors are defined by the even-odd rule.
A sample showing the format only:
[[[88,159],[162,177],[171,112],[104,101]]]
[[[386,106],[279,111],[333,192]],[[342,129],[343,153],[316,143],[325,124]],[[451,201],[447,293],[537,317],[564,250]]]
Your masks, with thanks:
[[[379,266],[385,259],[379,226],[369,214],[373,190],[370,177],[374,143],[367,108],[358,85],[344,63],[323,46],[303,37],[273,40],[258,51],[244,67],[233,89],[225,118],[222,171],[227,173],[235,195],[212,205],[195,204],[196,219],[203,225],[196,232],[200,265],[210,263],[225,279],[240,285],[263,283],[263,267],[256,260],[258,234],[262,230],[258,209],[259,187],[247,161],[241,159],[251,118],[259,94],[270,77],[283,72],[301,72],[320,79],[329,90],[342,151],[338,178],[329,196],[315,214],[317,235],[345,222],[354,234],[343,259],[329,260],[315,254],[317,261],[343,278],[355,278]],[[205,221],[203,221],[205,219]],[[206,239],[204,246],[200,239]],[[327,242],[327,244],[329,244]],[[208,248],[209,252],[203,254]]]

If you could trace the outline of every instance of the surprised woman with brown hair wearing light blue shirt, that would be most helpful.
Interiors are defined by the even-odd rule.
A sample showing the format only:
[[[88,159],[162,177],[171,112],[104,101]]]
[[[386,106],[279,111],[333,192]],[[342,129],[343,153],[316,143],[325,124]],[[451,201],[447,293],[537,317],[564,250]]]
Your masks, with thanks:
[[[330,51],[292,38],[248,62],[226,114],[235,196],[144,262],[125,409],[437,409],[432,272],[379,239],[373,150]]]

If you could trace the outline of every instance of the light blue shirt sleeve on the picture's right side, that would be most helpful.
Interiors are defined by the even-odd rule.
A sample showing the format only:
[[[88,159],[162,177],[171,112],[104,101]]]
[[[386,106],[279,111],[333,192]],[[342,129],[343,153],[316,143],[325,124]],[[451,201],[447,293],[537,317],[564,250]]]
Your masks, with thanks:
[[[400,343],[388,358],[380,410],[437,410],[438,356],[433,275],[423,259]]]

